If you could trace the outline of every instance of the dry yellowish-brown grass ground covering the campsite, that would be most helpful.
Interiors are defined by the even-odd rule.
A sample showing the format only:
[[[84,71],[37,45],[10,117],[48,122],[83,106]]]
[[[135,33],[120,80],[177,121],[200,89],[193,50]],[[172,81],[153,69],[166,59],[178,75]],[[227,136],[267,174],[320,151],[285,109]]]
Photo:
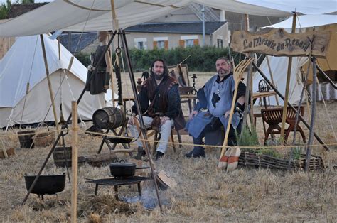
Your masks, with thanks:
[[[139,74],[135,75],[136,77]],[[210,77],[198,74],[197,87]],[[127,79],[124,92],[132,94]],[[78,172],[79,222],[337,222],[337,147],[331,124],[336,131],[336,102],[327,102],[328,114],[323,103],[319,103],[316,116],[316,132],[326,143],[335,143],[331,152],[315,146],[313,153],[322,156],[327,166],[325,171],[304,173],[269,169],[244,168],[239,165],[232,173],[216,170],[219,148],[208,148],[206,158],[186,159],[183,154],[191,146],[177,148],[169,146],[165,158],[156,161],[156,170],[165,172],[178,183],[177,187],[160,191],[164,212],[156,205],[156,193],[151,182],[142,185],[138,200],[134,187],[123,186],[119,191],[129,202],[114,199],[113,187],[100,187],[94,197],[95,186],[85,183],[85,178],[108,178],[108,166],[95,168],[82,165]],[[184,105],[185,115],[188,114]],[[306,111],[306,119],[308,119]],[[330,121],[329,121],[330,119]],[[87,127],[90,124],[87,124]],[[304,128],[305,129],[305,128]],[[40,200],[31,194],[26,205],[21,206],[26,195],[23,175],[36,174],[41,168],[50,147],[20,148],[15,135],[17,129],[8,133],[0,131],[6,148],[16,148],[16,154],[0,160],[0,220],[2,222],[68,222],[70,221],[70,191],[66,181],[65,190],[58,196],[46,195]],[[94,154],[100,146],[100,137],[84,134],[80,128],[79,155]],[[306,136],[309,131],[305,129]],[[263,141],[261,120],[257,123],[260,143]],[[175,138],[178,141],[177,138]],[[71,133],[65,137],[67,146]],[[192,143],[183,136],[183,143]],[[314,141],[317,144],[317,141]],[[135,147],[132,144],[132,147]],[[108,151],[105,146],[103,151]],[[119,158],[127,155],[119,154]],[[43,174],[60,174],[63,168],[55,168],[53,158],[48,161]],[[138,200],[138,201],[137,201]],[[152,207],[152,208],[149,208]]]

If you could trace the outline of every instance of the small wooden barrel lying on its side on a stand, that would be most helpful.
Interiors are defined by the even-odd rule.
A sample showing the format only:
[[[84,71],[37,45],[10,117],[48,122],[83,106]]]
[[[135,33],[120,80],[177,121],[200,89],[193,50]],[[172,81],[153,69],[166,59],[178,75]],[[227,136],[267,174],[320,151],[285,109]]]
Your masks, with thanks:
[[[92,115],[92,122],[100,129],[115,129],[122,126],[124,121],[124,112],[115,107],[98,109]]]

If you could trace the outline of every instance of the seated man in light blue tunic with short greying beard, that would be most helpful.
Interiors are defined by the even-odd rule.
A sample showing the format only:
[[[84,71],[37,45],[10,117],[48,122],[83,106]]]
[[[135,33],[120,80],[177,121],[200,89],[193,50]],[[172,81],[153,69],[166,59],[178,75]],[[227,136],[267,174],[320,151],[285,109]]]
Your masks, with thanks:
[[[206,82],[203,88],[198,91],[198,103],[194,111],[189,115],[189,121],[186,124],[186,131],[193,137],[193,143],[196,145],[193,150],[186,153],[186,157],[197,158],[205,157],[205,148],[200,146],[203,143],[205,132],[219,129],[223,126],[227,128],[232,97],[235,90],[235,80],[232,75],[232,66],[228,58],[218,58],[216,60],[217,73]],[[228,136],[228,146],[236,145],[236,134],[240,134],[241,116],[245,103],[245,84],[240,82],[235,114],[232,117],[230,134]]]

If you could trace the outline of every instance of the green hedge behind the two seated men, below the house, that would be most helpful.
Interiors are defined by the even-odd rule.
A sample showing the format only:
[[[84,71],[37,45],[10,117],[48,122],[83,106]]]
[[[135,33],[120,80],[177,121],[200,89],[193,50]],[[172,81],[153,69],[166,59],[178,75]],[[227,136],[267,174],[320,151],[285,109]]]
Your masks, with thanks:
[[[188,55],[191,56],[184,62],[188,65],[188,70],[213,72],[215,71],[215,60],[223,56],[228,56],[228,48],[216,48],[213,46],[200,47],[196,45],[193,47],[179,47],[171,50],[132,49],[129,50],[129,54],[134,72],[141,72],[149,69],[149,67],[151,66],[151,62],[156,60],[157,58],[164,59],[167,65],[177,65],[185,58],[187,58]],[[75,57],[80,60],[83,65],[90,65],[90,55],[77,53]],[[125,69],[127,69],[126,64]]]

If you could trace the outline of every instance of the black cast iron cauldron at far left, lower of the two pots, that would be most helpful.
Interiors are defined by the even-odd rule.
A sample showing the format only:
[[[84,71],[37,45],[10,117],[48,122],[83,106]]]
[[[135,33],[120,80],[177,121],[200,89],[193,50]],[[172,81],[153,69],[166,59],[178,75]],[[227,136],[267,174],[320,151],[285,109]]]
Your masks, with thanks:
[[[26,189],[31,188],[31,185],[36,178],[36,175],[25,175]],[[31,193],[41,195],[54,195],[65,189],[65,173],[61,175],[40,175],[38,181],[33,187]]]

